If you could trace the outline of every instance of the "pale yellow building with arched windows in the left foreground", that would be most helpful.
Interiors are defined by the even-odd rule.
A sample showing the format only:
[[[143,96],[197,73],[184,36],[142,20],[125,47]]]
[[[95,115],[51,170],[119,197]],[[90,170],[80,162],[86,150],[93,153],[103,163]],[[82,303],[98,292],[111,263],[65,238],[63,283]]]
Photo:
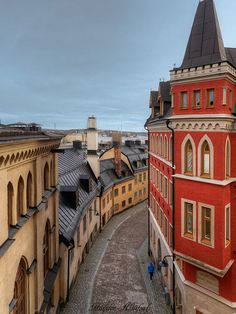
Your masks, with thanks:
[[[60,138],[0,138],[0,312],[56,313]]]

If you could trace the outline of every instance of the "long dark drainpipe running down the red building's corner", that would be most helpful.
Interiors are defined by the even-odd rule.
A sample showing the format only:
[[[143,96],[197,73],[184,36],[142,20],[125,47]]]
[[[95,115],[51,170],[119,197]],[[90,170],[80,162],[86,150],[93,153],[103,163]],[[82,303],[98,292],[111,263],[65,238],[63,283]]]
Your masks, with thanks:
[[[173,245],[173,314],[175,314],[175,152],[174,152],[174,129],[170,127],[170,120],[166,121],[166,126],[172,133],[172,245]]]

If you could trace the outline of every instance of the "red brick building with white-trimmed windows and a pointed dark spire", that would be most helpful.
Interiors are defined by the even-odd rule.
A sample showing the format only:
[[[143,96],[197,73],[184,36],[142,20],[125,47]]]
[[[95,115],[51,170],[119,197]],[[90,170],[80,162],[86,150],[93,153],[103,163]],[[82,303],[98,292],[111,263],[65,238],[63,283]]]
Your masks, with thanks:
[[[202,0],[146,122],[150,251],[176,313],[236,312],[235,106],[236,48],[224,47],[214,1]]]

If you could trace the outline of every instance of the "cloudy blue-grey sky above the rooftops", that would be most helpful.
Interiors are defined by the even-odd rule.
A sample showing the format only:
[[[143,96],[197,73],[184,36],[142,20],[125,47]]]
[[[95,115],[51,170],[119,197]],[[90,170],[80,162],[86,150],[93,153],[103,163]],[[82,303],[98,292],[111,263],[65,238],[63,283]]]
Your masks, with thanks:
[[[199,0],[0,0],[0,120],[143,131],[180,65]],[[236,1],[215,0],[226,47]]]

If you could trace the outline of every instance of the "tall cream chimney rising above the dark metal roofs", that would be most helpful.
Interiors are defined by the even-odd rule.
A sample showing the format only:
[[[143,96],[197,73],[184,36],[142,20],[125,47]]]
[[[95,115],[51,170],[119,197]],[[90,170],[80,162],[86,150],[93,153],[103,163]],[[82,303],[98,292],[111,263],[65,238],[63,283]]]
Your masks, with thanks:
[[[94,116],[88,117],[87,128],[87,161],[96,178],[100,176],[100,162],[98,156],[97,121]]]

